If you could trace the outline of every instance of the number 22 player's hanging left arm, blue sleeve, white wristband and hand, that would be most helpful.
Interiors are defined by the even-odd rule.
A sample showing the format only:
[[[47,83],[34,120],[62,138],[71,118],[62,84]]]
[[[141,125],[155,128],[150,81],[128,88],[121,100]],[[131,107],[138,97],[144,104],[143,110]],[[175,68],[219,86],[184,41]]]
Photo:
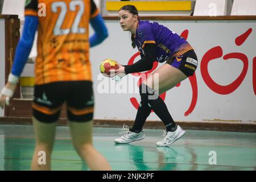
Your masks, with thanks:
[[[38,17],[25,16],[23,33],[15,51],[13,67],[8,77],[8,82],[0,93],[0,107],[2,108],[4,103],[9,105],[10,97],[13,97],[16,83],[19,81],[19,76],[32,49],[37,28]]]

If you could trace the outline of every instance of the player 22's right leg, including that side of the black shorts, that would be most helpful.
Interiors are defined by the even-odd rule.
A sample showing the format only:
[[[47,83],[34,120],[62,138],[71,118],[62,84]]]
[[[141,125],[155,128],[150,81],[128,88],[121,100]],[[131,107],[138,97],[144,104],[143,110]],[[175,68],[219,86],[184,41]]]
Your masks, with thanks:
[[[110,170],[108,161],[94,148],[92,142],[94,108],[92,82],[76,81],[72,83],[71,88],[67,113],[73,146],[90,169]]]

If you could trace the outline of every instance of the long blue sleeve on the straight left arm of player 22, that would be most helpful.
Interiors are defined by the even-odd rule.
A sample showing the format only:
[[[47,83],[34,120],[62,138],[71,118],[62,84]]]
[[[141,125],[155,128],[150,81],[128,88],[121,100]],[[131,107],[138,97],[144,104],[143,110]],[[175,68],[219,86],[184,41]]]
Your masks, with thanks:
[[[15,76],[21,75],[24,65],[27,63],[37,29],[38,17],[25,16],[22,36],[19,40],[18,46],[16,47],[13,68],[11,69],[11,73]]]

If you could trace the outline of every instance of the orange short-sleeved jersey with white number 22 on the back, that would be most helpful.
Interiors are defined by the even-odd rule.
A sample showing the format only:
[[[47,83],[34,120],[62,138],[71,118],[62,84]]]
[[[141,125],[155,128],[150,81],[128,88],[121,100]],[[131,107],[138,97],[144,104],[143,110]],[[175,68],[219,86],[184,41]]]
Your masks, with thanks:
[[[89,20],[98,15],[93,0],[26,0],[25,15],[39,19],[36,85],[92,80]]]

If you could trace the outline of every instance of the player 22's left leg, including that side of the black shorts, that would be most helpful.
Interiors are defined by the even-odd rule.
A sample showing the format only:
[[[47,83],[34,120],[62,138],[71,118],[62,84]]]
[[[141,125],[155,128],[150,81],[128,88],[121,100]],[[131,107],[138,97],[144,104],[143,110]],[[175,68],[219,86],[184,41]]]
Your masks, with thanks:
[[[32,159],[32,170],[51,169],[51,154],[55,139],[56,121],[60,115],[63,94],[57,90],[59,83],[36,85],[34,92],[33,125],[36,137],[35,151]]]

